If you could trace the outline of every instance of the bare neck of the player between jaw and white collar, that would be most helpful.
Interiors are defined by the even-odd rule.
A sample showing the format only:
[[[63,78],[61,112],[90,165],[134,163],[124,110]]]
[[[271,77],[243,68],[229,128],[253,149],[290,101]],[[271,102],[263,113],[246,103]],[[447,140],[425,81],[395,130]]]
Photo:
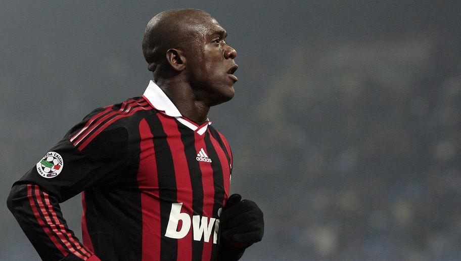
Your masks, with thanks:
[[[157,85],[173,102],[182,116],[194,121],[205,122],[210,106],[198,100],[190,84],[175,80],[157,79]]]

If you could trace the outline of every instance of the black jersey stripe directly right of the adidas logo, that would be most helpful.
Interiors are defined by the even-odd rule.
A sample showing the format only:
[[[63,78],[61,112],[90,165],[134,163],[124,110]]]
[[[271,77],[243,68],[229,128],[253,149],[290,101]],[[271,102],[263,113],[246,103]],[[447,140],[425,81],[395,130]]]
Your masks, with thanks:
[[[213,169],[213,186],[214,186],[214,204],[213,204],[213,218],[218,219],[218,209],[222,207],[222,201],[224,200],[224,181],[222,179],[222,169],[227,166],[221,166],[218,154],[211,143],[211,137],[208,132],[205,133],[205,145],[208,152],[208,157],[213,159],[211,161],[211,168]],[[211,260],[217,258],[218,244],[213,244],[211,249]]]

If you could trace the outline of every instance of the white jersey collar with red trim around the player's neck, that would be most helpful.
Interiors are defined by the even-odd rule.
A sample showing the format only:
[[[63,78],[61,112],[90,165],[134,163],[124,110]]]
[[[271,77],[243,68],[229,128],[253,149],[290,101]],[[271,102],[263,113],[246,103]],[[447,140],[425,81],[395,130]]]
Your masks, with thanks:
[[[208,127],[211,124],[211,121],[207,119],[206,124],[197,125],[197,123],[182,117],[179,110],[173,104],[173,102],[166,96],[166,94],[160,89],[160,87],[153,81],[149,81],[146,91],[143,95],[144,99],[155,109],[163,112],[164,114],[175,117],[183,125],[186,125],[190,129],[196,131],[199,135],[203,135]]]

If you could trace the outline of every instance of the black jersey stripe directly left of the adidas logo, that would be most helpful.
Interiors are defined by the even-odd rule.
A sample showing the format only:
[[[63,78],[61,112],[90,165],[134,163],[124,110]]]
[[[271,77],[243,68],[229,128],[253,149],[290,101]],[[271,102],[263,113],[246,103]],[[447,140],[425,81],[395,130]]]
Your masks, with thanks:
[[[197,161],[197,151],[195,150],[195,135],[191,134],[193,130],[178,124],[178,130],[181,134],[181,141],[184,145],[186,159],[189,166],[192,185],[192,209],[194,215],[203,216],[203,185],[202,185],[202,170],[200,169],[199,161]],[[192,260],[202,260],[203,241],[192,240]]]

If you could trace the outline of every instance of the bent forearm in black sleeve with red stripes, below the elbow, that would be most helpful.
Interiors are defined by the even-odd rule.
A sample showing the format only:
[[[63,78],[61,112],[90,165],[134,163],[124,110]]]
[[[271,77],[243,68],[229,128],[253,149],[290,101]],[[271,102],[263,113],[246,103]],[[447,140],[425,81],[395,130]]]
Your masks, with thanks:
[[[67,227],[58,200],[39,186],[13,186],[7,203],[43,260],[99,260]]]

